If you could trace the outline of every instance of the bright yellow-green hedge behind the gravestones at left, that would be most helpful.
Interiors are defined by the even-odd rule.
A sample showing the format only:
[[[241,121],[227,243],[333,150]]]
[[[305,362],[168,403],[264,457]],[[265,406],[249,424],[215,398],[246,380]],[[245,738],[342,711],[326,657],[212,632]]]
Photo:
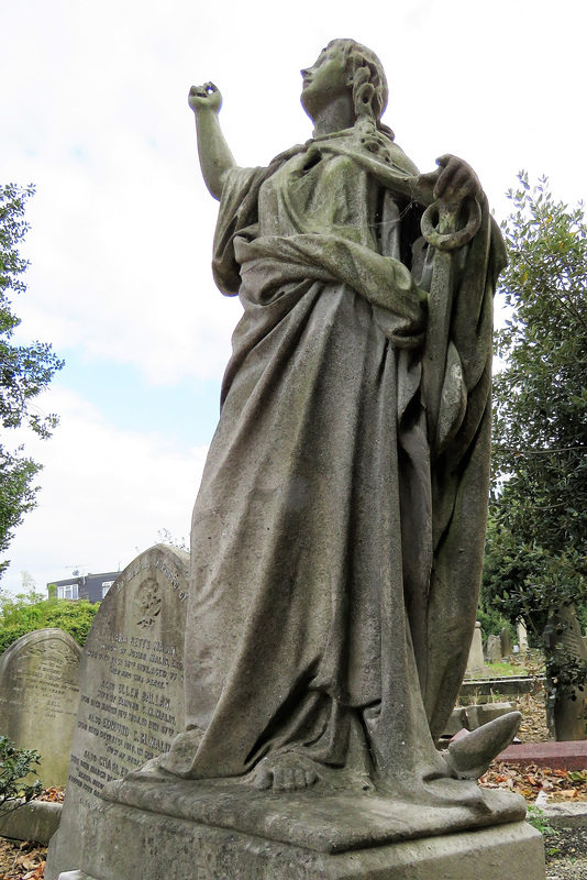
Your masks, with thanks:
[[[21,636],[51,627],[69,632],[84,647],[99,607],[87,600],[44,598],[34,592],[0,596],[0,653]]]

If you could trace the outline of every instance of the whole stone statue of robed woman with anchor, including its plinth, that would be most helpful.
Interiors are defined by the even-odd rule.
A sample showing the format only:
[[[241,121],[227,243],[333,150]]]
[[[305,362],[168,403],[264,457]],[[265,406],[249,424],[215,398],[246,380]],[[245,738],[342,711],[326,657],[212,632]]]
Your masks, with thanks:
[[[189,94],[244,316],[193,509],[186,724],[107,782],[76,867],[535,880],[523,800],[476,782],[519,713],[434,746],[477,610],[503,242],[470,166],[396,144],[373,52],[335,40],[302,77],[313,136],[266,168],[236,166],[212,82]]]

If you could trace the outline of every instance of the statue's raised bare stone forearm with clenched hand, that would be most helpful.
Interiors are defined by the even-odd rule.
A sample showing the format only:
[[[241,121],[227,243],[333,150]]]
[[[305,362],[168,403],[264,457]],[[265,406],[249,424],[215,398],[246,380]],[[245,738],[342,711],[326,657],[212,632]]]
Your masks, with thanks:
[[[190,88],[188,102],[196,116],[203,180],[210,195],[220,200],[226,173],[236,165],[218,119],[222,95],[213,82],[204,82]]]

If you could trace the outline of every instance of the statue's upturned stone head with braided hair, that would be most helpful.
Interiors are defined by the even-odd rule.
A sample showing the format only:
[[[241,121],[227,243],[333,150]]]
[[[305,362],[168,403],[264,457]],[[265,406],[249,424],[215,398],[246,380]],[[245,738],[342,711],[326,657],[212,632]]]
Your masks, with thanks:
[[[388,88],[377,55],[354,40],[333,40],[312,67],[301,72],[301,102],[313,119],[324,102],[347,92],[357,120],[370,119],[378,125],[387,107]]]

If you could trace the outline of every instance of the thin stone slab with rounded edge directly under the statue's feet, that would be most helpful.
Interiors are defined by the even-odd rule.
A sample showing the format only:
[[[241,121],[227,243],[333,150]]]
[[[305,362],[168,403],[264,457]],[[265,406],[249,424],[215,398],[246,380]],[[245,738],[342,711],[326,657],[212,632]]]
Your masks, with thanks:
[[[324,791],[317,787],[276,794],[243,785],[240,780],[178,780],[169,774],[165,781],[117,781],[102,792],[109,801],[157,813],[162,822],[171,816],[320,853],[514,823],[525,815],[520,795],[476,787],[470,793],[468,803],[422,805],[361,789]]]

